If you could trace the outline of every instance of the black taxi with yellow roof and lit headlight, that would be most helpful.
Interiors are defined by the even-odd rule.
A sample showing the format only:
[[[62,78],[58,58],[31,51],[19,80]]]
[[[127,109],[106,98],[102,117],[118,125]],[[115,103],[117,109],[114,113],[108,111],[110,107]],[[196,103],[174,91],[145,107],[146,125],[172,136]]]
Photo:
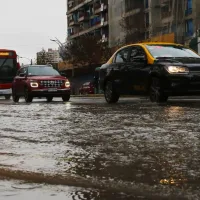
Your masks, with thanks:
[[[108,103],[121,95],[200,95],[200,56],[174,43],[138,43],[117,50],[100,68],[100,87]]]

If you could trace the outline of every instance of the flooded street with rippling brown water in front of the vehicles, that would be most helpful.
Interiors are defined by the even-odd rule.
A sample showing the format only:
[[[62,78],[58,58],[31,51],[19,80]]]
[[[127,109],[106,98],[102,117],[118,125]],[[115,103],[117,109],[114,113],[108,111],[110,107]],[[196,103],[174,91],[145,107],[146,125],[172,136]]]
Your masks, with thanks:
[[[200,100],[0,100],[0,199],[200,199]]]

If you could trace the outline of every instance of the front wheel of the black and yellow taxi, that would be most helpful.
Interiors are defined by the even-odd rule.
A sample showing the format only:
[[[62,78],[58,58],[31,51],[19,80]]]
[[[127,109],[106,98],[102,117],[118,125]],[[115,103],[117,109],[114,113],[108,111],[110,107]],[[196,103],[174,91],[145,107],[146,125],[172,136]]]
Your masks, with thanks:
[[[151,102],[162,103],[168,100],[168,96],[164,94],[159,78],[152,78],[149,96]]]

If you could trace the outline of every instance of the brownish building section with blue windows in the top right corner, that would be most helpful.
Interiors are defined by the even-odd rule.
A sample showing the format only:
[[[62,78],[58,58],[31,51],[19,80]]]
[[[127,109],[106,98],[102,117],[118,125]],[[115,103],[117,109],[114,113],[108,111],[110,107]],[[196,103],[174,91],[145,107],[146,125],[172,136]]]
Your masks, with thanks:
[[[145,0],[145,37],[174,33],[174,42],[189,44],[200,28],[199,0]]]

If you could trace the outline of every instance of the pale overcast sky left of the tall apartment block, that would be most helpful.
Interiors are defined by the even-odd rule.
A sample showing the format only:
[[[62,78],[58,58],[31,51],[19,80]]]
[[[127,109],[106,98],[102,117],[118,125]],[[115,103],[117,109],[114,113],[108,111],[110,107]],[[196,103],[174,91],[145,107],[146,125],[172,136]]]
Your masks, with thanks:
[[[0,48],[14,49],[29,59],[43,47],[58,48],[50,39],[65,41],[66,0],[0,0]],[[29,63],[20,59],[20,63]]]

